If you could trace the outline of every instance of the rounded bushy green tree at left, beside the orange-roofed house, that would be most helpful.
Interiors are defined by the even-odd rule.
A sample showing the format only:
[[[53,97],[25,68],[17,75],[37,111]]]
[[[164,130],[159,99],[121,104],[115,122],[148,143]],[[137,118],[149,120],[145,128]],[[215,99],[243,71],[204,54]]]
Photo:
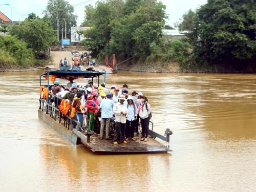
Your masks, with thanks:
[[[9,33],[25,41],[28,48],[31,48],[35,55],[49,48],[55,38],[50,23],[45,22],[44,19],[26,19],[20,25],[11,27]]]

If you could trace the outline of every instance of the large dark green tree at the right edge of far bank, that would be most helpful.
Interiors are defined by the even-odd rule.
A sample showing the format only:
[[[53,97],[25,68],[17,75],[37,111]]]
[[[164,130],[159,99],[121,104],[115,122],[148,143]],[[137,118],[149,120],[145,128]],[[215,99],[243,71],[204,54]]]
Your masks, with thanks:
[[[198,10],[198,55],[210,64],[242,68],[256,57],[256,4],[250,0],[208,0]]]

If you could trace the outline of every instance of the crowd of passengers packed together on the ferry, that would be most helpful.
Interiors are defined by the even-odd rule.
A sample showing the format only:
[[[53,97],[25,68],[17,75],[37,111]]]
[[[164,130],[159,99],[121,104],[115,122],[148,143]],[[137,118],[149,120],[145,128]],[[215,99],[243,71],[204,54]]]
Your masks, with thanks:
[[[139,121],[142,128],[140,141],[147,141],[148,126],[150,123],[151,106],[145,95],[141,92],[133,91],[131,94],[127,84],[123,84],[122,88],[111,86],[106,89],[105,82],[99,87],[93,85],[91,79],[88,80],[86,86],[78,86],[74,82],[74,78],[70,77],[66,87],[60,86],[58,80],[54,81],[54,85],[48,90],[47,86],[40,88],[40,97],[47,99],[50,95],[51,102],[58,107],[59,111],[65,116],[76,118],[81,123],[83,114],[87,114],[89,118],[89,129],[93,134],[94,121],[98,114],[101,114],[99,139],[112,140],[110,137],[111,120],[115,118],[115,132],[113,144],[124,143],[127,141],[136,141],[139,136]],[[59,99],[60,98],[60,99]],[[104,134],[105,130],[105,134]]]

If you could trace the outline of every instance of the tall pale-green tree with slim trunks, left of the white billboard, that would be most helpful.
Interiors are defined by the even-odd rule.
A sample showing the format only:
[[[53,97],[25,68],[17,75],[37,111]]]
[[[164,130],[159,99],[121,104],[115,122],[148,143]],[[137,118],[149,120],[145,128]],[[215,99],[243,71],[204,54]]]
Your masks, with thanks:
[[[74,7],[69,2],[64,0],[49,0],[44,13],[44,18],[50,20],[55,30],[65,30],[66,22],[67,38],[71,37],[71,27],[76,26],[77,15],[74,13]],[[59,39],[61,39],[61,33],[59,33]]]

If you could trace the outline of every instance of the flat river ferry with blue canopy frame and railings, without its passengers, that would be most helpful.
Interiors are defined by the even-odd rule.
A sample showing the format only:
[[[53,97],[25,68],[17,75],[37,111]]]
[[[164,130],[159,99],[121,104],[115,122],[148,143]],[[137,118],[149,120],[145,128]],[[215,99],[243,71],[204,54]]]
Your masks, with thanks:
[[[91,79],[93,84],[97,84],[99,87],[99,82],[105,82],[106,72],[91,71],[90,69],[88,71],[81,71],[80,69],[49,70],[39,76],[40,87],[47,86],[49,90],[49,87],[51,86],[51,78],[67,79],[69,76],[72,76],[74,79],[84,79],[85,81]],[[61,87],[65,88],[65,86]],[[140,141],[139,136],[135,136],[134,138],[137,139],[136,141],[129,141],[128,144],[114,145],[112,140],[98,139],[100,118],[97,119],[97,125],[94,130],[96,134],[94,134],[88,129],[86,118],[83,118],[84,122],[79,122],[75,119],[71,119],[69,115],[63,116],[60,110],[50,103],[50,97],[61,99],[60,97],[51,94],[47,96],[47,99],[40,98],[38,117],[52,129],[56,130],[63,138],[71,141],[73,144],[83,144],[90,151],[95,153],[167,153],[172,151],[169,148],[169,137],[173,134],[172,131],[166,129],[164,136],[154,132],[153,120],[150,122],[151,127],[147,142],[142,142]],[[113,135],[115,122],[112,122],[111,126]],[[163,144],[163,142],[158,141],[159,139],[163,140],[166,145]]]

